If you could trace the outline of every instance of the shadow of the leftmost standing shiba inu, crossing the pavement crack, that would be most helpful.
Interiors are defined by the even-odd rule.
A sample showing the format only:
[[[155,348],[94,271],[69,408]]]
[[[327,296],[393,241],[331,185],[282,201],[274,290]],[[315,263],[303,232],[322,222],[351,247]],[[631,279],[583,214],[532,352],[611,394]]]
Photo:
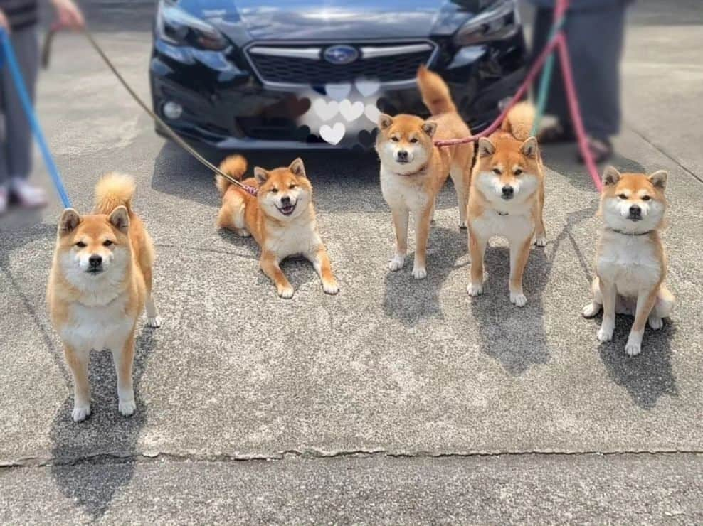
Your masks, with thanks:
[[[142,323],[142,320],[137,322]],[[93,520],[99,520],[110,508],[110,503],[120,488],[134,477],[134,468],[139,455],[139,435],[147,424],[148,407],[141,397],[141,380],[149,356],[156,346],[157,330],[142,328],[137,336],[134,349],[134,398],[137,411],[132,417],[123,417],[117,411],[117,377],[108,350],[91,353],[90,387],[92,402],[90,417],[84,422],[75,423],[71,418],[73,409],[73,384],[70,394],[63,402],[51,424],[53,444],[51,476],[56,486],[71,502],[83,508]],[[110,457],[127,468],[114,470],[110,476],[80,477],[67,469],[75,458],[95,457],[96,445],[104,450],[100,457]]]

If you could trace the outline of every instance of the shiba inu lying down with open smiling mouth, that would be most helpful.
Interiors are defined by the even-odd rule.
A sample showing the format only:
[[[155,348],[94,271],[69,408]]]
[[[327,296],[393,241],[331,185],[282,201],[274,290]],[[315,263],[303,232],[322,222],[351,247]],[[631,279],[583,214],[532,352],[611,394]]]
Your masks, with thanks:
[[[246,168],[242,156],[228,157],[220,165],[224,173],[238,181]],[[253,197],[226,178],[216,176],[216,186],[222,195],[217,226],[243,237],[254,236],[261,247],[261,270],[274,282],[280,297],[293,296],[293,287],[280,269],[280,262],[293,255],[309,259],[322,279],[322,289],[327,294],[337,294],[339,286],[332,274],[327,249],[317,233],[312,185],[302,160],[295,159],[290,166],[271,171],[257,166],[254,177],[244,183],[258,188],[258,195]]]

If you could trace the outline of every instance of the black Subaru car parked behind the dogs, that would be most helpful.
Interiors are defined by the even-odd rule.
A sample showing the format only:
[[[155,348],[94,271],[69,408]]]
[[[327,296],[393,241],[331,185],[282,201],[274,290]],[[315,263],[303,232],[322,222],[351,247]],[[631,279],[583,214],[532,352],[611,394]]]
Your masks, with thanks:
[[[374,107],[427,115],[415,82],[425,64],[477,131],[524,78],[515,4],[160,0],[154,109],[182,136],[218,149],[369,147]]]

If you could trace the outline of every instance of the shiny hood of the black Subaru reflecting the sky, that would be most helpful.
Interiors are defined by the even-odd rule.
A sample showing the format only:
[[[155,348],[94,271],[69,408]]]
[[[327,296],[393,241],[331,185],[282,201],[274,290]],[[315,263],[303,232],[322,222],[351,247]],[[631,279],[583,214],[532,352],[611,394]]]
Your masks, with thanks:
[[[451,35],[492,0],[182,0],[236,43]],[[200,9],[192,9],[194,7]],[[207,7],[205,7],[207,6]]]

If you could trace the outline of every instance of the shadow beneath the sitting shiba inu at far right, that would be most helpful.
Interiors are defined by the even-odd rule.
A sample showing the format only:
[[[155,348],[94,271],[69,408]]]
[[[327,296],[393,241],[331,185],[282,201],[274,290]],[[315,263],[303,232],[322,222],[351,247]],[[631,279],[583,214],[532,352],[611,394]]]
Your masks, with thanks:
[[[602,319],[602,314],[594,318],[594,339]],[[663,394],[678,396],[672,371],[671,349],[676,325],[669,318],[664,321],[664,326],[659,331],[653,331],[647,326],[642,340],[642,352],[638,356],[630,357],[625,353],[625,343],[633,321],[633,316],[618,314],[613,340],[601,344],[598,353],[610,379],[625,387],[639,407],[653,409]]]

